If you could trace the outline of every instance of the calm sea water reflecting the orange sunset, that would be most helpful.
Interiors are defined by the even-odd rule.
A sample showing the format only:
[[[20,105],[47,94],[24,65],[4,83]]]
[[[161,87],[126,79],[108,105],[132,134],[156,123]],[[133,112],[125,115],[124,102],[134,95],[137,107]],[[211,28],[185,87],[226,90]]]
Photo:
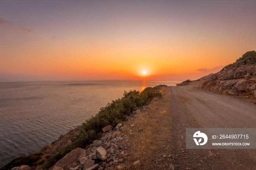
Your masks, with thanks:
[[[124,90],[179,81],[0,82],[0,167],[50,144]]]

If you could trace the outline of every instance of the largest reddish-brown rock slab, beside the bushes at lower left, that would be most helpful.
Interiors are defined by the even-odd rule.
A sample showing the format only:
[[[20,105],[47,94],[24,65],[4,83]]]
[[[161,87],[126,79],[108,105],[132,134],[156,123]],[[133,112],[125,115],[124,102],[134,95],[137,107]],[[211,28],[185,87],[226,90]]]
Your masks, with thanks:
[[[65,157],[55,163],[49,170],[53,170],[55,166],[63,168],[63,170],[69,170],[78,166],[81,157],[86,155],[86,150],[82,148],[75,148],[69,152]]]

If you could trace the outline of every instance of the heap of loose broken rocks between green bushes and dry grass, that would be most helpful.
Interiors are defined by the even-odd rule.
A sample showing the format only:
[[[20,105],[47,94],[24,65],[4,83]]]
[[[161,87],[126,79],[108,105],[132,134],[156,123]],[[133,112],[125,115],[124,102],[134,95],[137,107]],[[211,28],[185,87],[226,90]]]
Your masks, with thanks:
[[[150,107],[138,107],[136,111],[127,117],[128,120],[134,120],[136,114],[150,110]],[[131,127],[134,125],[132,124]],[[127,159],[127,146],[124,146],[126,139],[123,123],[118,123],[112,130],[112,126],[106,126],[102,129],[103,134],[100,140],[94,140],[86,149],[76,148],[60,159],[50,170],[104,170],[125,169],[122,163]],[[104,132],[105,131],[105,132]],[[138,131],[143,131],[139,129]],[[121,164],[121,165],[120,165]],[[137,169],[141,166],[139,160],[133,163]]]

